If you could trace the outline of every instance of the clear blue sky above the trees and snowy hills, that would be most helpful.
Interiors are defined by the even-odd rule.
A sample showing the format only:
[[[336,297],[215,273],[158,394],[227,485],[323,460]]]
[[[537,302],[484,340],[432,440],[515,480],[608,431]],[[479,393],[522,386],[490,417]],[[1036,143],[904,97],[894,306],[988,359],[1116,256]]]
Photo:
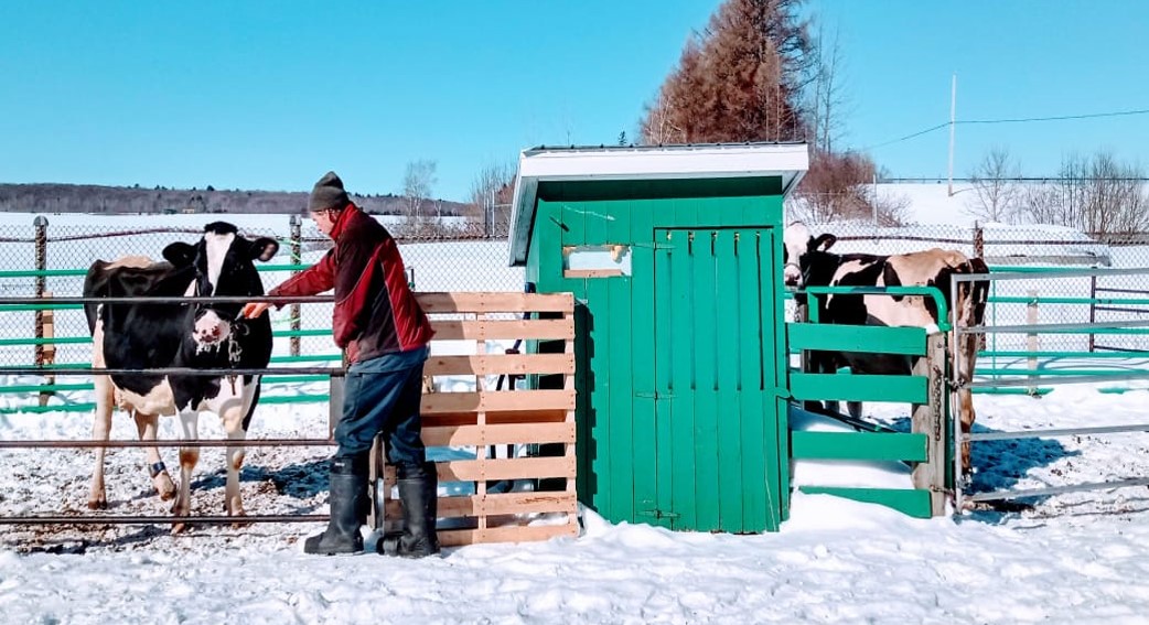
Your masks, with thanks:
[[[634,134],[717,0],[448,2],[5,1],[0,182],[399,192],[438,165],[465,200],[478,170],[539,144]],[[1149,2],[811,1],[836,30],[840,147],[894,176],[944,176],[949,118],[1149,109]],[[887,145],[881,145],[887,144]],[[955,173],[993,146],[1027,175],[1071,152],[1149,165],[1149,115],[959,125]],[[878,146],[878,147],[876,147]]]

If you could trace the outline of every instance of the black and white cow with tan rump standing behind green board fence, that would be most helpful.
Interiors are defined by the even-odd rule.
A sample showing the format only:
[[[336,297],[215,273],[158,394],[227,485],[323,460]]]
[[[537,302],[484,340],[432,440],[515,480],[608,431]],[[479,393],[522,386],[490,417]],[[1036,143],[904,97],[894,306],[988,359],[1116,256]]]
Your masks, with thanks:
[[[950,278],[955,275],[987,273],[981,259],[970,259],[950,249],[927,249],[910,254],[878,256],[873,254],[834,254],[828,252],[836,238],[833,234],[813,237],[805,224],[796,222],[786,227],[786,268],[784,281],[789,287],[805,286],[935,286],[944,295],[946,306],[955,325],[981,325],[985,319],[989,284],[985,280],[959,283],[957,302],[950,300]],[[799,303],[807,298],[799,294]],[[818,318],[822,323],[843,325],[920,326],[936,330],[938,304],[931,296],[920,295],[822,295],[817,298]],[[956,377],[969,383],[978,355],[978,337],[963,334],[958,346],[961,365]],[[895,355],[831,352],[811,354],[816,371],[833,372],[849,366],[855,373],[910,375],[911,358]],[[962,431],[973,426],[973,398],[969,386],[958,392],[958,414]],[[850,412],[859,416],[861,406],[853,403]],[[962,446],[963,466],[970,468],[969,443]]]

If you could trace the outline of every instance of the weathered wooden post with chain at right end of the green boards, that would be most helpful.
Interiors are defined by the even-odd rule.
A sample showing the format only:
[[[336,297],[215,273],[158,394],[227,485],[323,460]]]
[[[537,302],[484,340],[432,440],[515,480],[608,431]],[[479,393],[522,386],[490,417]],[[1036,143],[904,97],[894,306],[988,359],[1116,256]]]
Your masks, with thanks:
[[[913,366],[915,376],[928,377],[928,403],[913,404],[912,430],[926,435],[926,462],[913,466],[911,479],[915,488],[930,491],[930,514],[946,514],[946,334],[926,337],[926,355]],[[955,454],[961,441],[955,441]]]

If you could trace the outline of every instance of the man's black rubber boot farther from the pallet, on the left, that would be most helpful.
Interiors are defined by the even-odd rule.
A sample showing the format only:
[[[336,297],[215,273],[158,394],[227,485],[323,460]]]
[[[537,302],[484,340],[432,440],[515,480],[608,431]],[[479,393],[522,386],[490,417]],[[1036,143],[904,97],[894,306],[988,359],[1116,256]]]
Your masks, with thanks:
[[[327,530],[303,542],[307,554],[357,554],[363,550],[360,526],[367,522],[367,458],[331,461],[331,520]]]

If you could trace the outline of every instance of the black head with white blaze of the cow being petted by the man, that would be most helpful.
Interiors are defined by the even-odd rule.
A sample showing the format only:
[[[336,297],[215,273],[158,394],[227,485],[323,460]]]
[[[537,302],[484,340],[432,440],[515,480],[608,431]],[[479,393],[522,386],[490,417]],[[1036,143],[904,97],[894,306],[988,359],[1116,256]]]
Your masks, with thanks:
[[[194,272],[188,284],[190,296],[262,295],[263,283],[254,261],[267,262],[279,250],[275,239],[247,239],[234,225],[214,222],[203,227],[203,238],[195,245],[175,242],[163,249],[177,270]],[[225,340],[242,303],[200,303],[195,306],[192,340],[200,347],[213,347]]]

